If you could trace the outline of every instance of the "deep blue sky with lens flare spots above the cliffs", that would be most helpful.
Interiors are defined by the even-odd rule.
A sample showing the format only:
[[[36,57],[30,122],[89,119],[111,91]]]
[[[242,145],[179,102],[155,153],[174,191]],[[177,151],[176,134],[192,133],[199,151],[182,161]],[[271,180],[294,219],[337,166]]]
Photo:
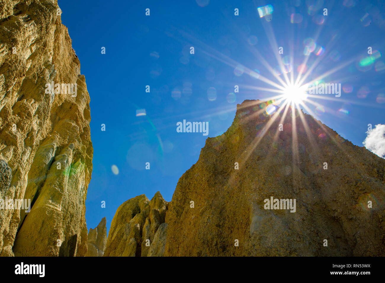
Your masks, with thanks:
[[[151,199],[160,191],[171,201],[178,179],[198,160],[206,138],[222,134],[231,125],[236,104],[276,95],[259,89],[275,88],[262,77],[278,83],[263,60],[281,79],[285,74],[277,57],[294,79],[305,59],[303,70],[318,62],[306,82],[338,69],[320,82],[341,83],[341,97],[309,98],[319,107],[305,102],[309,110],[300,108],[316,114],[353,144],[362,146],[368,124],[373,128],[385,124],[384,3],[165,3],[59,0],[62,22],[68,27],[91,98],[94,157],[87,228],[94,228],[105,216],[109,229],[118,206],[139,194]],[[266,5],[273,12],[259,17],[257,8]],[[283,47],[283,54],[276,47]],[[234,85],[239,86],[238,93]],[[136,116],[140,109],[145,109],[145,116]],[[176,123],[183,119],[209,122],[208,136],[177,132]],[[106,208],[101,208],[101,201]]]

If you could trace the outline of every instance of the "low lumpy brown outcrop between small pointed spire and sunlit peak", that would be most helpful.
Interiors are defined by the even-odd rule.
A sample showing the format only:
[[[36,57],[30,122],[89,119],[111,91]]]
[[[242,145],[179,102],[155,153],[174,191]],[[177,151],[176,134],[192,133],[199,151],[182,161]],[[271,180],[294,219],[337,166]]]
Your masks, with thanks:
[[[121,204],[111,222],[104,256],[162,255],[167,207],[159,192],[151,201],[142,194]]]

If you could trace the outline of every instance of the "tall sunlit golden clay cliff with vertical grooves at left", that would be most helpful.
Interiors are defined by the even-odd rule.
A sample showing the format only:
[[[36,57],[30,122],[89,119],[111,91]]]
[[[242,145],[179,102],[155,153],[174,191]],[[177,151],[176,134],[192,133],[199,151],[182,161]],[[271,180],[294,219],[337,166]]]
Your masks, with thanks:
[[[0,209],[2,256],[87,253],[90,97],[60,13],[57,0],[0,4],[0,199],[32,206]]]

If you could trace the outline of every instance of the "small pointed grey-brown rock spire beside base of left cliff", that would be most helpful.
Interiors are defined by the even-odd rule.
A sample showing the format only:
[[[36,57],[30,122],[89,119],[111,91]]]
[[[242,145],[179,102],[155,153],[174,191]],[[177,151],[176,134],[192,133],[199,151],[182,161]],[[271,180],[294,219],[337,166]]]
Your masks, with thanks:
[[[102,218],[95,229],[90,228],[88,233],[88,251],[85,256],[103,256],[107,244],[106,219]]]

